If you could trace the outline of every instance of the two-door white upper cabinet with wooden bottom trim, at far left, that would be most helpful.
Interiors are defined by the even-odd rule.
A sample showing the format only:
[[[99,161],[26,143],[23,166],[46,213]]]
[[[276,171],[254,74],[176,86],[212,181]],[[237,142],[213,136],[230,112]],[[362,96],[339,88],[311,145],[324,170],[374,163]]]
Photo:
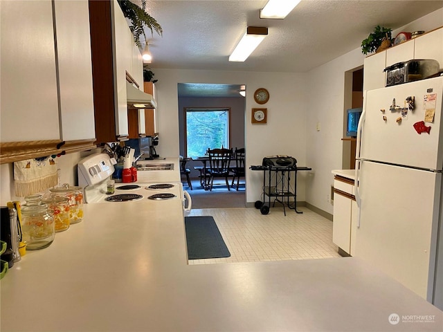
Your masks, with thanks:
[[[0,12],[1,163],[93,147],[87,0],[0,1]]]

